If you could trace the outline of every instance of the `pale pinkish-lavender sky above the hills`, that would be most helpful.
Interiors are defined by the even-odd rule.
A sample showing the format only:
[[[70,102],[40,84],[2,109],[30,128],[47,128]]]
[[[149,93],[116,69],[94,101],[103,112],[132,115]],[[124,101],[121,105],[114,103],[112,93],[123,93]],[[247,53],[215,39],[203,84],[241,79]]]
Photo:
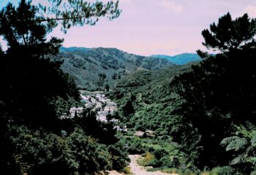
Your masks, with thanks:
[[[0,0],[0,7],[7,1]],[[64,38],[64,47],[116,47],[138,55],[177,55],[206,50],[201,31],[227,12],[233,18],[245,12],[256,18],[255,0],[119,1],[122,12],[115,20],[101,18],[96,26],[70,28],[67,34],[56,28],[51,35]]]

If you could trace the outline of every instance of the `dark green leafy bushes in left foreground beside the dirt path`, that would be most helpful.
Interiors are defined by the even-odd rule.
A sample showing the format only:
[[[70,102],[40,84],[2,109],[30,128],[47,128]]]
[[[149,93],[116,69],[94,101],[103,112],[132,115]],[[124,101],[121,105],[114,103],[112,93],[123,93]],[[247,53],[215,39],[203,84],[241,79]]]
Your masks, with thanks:
[[[14,126],[9,130],[12,168],[17,174],[83,174],[127,166],[127,155],[120,147],[99,144],[83,130],[69,136]]]

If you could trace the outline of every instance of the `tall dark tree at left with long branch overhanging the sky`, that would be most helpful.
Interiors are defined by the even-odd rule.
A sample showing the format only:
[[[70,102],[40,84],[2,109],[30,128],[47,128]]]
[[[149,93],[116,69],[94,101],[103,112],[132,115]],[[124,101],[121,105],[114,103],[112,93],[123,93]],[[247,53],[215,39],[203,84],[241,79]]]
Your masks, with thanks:
[[[4,102],[8,115],[22,123],[42,123],[44,118],[56,115],[55,106],[61,104],[56,101],[79,99],[75,82],[60,69],[61,61],[50,61],[50,55],[59,52],[63,39],[52,37],[47,41],[47,34],[59,22],[66,30],[71,26],[94,25],[104,16],[112,20],[120,13],[118,1],[106,4],[81,0],[49,2],[51,6],[39,4],[36,7],[31,1],[21,0],[17,8],[9,3],[0,12],[0,36],[8,45],[7,52],[1,52],[0,58],[3,89],[0,100]],[[34,101],[38,103],[31,105]],[[42,120],[31,120],[38,114]],[[45,125],[51,125],[52,120],[47,121]]]

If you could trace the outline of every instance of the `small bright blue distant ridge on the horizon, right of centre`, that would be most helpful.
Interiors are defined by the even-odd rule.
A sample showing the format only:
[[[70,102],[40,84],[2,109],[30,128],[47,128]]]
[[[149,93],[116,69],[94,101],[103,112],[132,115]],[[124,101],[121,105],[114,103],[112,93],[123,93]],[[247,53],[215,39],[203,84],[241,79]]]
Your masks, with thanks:
[[[169,56],[169,55],[151,55],[155,58],[165,58],[168,61],[175,63],[177,65],[184,65],[192,61],[201,61],[199,55],[196,53],[181,53],[179,55]]]

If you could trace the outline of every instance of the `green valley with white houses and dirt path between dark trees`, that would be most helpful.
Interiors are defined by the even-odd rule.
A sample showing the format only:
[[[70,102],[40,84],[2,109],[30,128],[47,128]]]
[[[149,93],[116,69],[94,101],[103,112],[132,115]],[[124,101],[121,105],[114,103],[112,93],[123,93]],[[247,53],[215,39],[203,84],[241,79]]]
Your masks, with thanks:
[[[185,65],[170,65],[156,70],[137,69],[115,79],[114,83],[103,82],[103,87],[110,86],[108,90],[80,90],[83,108],[95,112],[98,123],[109,123],[116,132],[118,144],[129,154],[131,162],[127,167],[133,174],[172,174],[178,170],[165,167],[165,163],[176,158],[187,160],[188,155],[166,134],[170,129],[166,123],[173,120],[170,112],[177,102],[180,103],[176,93],[168,87],[174,77],[191,71],[192,66],[199,63],[192,60]],[[102,85],[97,82],[94,82],[94,87],[102,90]],[[83,117],[74,109],[83,112],[80,108],[73,108],[72,116],[76,113]],[[162,152],[162,155],[156,158],[156,152]],[[150,167],[151,172],[143,166]],[[110,171],[110,174],[118,172]]]

